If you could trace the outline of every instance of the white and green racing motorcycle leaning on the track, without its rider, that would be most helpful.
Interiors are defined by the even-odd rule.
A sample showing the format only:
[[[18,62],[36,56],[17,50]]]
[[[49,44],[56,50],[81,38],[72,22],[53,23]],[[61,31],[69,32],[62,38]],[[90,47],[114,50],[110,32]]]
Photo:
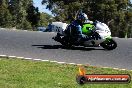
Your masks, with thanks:
[[[50,27],[51,28],[51,27]],[[77,42],[76,37],[72,36],[72,29],[68,30],[68,24],[62,22],[52,23],[52,31],[57,32],[53,39],[65,47],[74,46],[101,46],[107,50],[113,50],[117,47],[116,41],[111,36],[109,27],[102,22],[96,21],[96,24],[85,23],[82,27],[82,33],[88,36],[88,40]]]

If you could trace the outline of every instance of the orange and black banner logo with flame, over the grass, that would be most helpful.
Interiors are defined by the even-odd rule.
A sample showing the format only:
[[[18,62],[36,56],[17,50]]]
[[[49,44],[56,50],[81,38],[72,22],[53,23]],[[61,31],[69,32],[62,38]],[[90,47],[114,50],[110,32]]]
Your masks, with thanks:
[[[76,76],[79,84],[85,83],[130,83],[129,74],[86,74],[84,67],[79,67],[79,74]]]

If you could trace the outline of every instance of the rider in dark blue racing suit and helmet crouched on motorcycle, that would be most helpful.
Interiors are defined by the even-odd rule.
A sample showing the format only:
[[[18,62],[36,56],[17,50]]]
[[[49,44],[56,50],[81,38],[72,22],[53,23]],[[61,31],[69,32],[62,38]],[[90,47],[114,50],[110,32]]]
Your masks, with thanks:
[[[82,26],[84,23],[93,24],[93,22],[88,19],[88,16],[85,13],[80,12],[76,17],[76,20],[73,21],[67,28],[67,31],[70,31],[69,35],[75,36],[77,38],[77,42],[90,39],[90,37],[82,33]]]

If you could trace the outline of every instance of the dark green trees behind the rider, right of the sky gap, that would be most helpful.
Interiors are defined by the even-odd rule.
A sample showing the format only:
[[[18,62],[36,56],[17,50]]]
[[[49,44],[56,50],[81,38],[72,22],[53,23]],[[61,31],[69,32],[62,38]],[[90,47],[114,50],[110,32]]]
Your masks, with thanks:
[[[107,23],[113,36],[124,37],[132,22],[130,0],[43,0],[59,21],[75,19],[79,9],[88,14],[90,20]]]

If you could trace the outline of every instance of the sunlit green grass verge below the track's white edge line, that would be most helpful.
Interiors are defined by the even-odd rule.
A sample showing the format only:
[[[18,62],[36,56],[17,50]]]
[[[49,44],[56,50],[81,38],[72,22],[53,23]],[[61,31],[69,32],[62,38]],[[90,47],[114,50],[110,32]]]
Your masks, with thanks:
[[[86,67],[87,74],[130,74],[131,71]],[[0,59],[0,88],[132,88],[129,84],[85,84],[76,82],[78,67],[20,59]]]

